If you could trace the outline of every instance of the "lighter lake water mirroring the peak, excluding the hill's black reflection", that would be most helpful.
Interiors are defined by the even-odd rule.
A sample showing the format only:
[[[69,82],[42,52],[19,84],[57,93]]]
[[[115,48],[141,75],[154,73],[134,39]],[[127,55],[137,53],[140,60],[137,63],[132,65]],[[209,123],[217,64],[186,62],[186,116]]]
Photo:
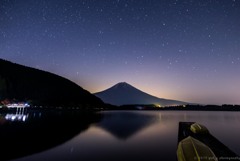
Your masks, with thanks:
[[[176,161],[179,121],[205,125],[240,154],[239,112],[112,111],[99,115],[97,121],[90,121],[87,128],[60,145],[14,161]]]

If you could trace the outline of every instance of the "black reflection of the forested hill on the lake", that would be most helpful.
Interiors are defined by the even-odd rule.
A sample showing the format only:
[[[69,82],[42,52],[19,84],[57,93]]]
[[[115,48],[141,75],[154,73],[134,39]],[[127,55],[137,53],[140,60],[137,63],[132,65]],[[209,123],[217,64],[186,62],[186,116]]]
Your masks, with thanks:
[[[23,157],[55,147],[100,119],[99,114],[74,111],[17,111],[1,114],[0,160]]]

